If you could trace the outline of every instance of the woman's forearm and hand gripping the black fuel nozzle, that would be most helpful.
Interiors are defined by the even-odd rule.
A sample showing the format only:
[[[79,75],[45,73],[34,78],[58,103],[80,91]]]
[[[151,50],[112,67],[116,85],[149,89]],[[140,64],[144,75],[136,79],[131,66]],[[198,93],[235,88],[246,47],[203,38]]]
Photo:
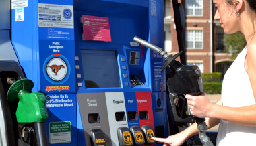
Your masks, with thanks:
[[[186,95],[186,98],[192,115],[224,119],[241,125],[256,126],[256,105],[234,108],[212,104],[205,93],[199,96]]]

